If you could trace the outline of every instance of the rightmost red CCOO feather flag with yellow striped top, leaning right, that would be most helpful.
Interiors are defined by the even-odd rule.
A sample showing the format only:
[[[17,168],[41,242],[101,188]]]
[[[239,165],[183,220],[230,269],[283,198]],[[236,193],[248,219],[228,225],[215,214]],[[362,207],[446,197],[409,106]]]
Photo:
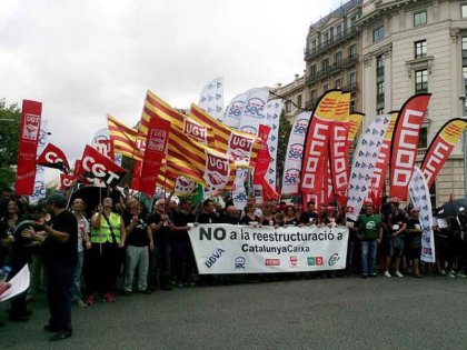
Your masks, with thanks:
[[[451,119],[443,126],[433,139],[420,167],[425,179],[427,179],[428,188],[435,182],[436,176],[449,158],[466,128],[467,119]]]

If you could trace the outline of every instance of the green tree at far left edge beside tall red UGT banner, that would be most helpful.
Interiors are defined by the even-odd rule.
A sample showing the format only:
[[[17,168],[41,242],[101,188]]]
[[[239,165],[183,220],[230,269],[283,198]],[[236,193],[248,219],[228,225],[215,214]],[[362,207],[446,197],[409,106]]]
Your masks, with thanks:
[[[7,107],[4,99],[0,100],[0,188],[14,183],[14,164],[18,158],[19,128],[21,111],[18,103]]]

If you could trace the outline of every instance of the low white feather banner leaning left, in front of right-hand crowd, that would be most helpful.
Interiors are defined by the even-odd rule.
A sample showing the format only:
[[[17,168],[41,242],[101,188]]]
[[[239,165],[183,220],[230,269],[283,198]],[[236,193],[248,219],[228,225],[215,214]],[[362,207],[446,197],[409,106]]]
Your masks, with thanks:
[[[409,193],[414,207],[419,210],[419,221],[424,228],[421,233],[421,257],[425,262],[435,262],[435,237],[433,232],[431,201],[429,199],[429,188],[424,173],[418,167],[414,167],[414,172],[409,182]]]

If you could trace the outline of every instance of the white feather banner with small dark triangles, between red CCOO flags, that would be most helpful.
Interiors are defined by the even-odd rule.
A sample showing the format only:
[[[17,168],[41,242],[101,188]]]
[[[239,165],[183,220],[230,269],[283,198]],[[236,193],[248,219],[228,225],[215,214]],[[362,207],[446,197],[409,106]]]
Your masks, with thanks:
[[[384,137],[389,127],[389,114],[378,116],[360,136],[350,171],[347,201],[348,219],[357,220],[364,200],[368,196],[376,161],[378,160]]]

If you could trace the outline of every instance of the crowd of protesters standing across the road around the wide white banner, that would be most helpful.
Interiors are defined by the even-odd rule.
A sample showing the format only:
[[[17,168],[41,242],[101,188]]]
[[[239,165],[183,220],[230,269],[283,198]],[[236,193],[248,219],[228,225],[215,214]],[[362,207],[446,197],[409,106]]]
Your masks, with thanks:
[[[192,206],[189,199],[177,203],[169,197],[148,209],[138,197],[123,196],[118,189],[97,208],[87,208],[85,198],[70,200],[59,193],[29,206],[27,199],[3,190],[0,268],[10,266],[10,278],[27,263],[31,272],[28,291],[10,303],[9,319],[28,321],[28,302],[47,291],[51,319],[44,329],[53,332],[51,340],[60,340],[71,336],[71,304],[87,308],[100,300],[115,302],[116,291],[150,294],[175,287],[231,282],[225,276],[198,276],[188,236],[190,223],[349,228],[346,270],[289,273],[287,278],[374,278],[377,273],[386,278],[420,278],[425,273],[466,277],[464,216],[435,224],[436,263],[423,264],[417,208],[401,210],[397,202],[388,202],[376,212],[372,204],[366,204],[357,222],[347,222],[345,212],[336,207],[317,211],[312,201],[307,208],[277,201],[259,206],[255,197],[248,198],[241,211],[230,198],[225,206],[211,199]]]

